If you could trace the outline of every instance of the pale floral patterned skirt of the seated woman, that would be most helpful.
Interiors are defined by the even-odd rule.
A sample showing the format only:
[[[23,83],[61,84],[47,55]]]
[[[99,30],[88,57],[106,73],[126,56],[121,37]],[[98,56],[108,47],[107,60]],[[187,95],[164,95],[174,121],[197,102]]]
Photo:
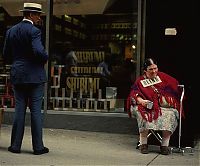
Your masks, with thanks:
[[[146,129],[153,129],[157,131],[167,130],[173,133],[176,130],[179,119],[179,113],[177,109],[161,107],[162,115],[159,116],[158,119],[153,120],[152,122],[148,122],[142,118],[137,108],[137,106],[132,107],[131,114],[132,117],[137,119],[139,132],[142,132]]]

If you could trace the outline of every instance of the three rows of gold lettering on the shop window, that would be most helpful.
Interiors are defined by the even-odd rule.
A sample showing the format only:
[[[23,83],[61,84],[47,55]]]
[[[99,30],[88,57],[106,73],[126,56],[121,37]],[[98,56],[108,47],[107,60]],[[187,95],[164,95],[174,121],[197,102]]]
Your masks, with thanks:
[[[96,93],[100,85],[100,78],[96,76],[100,75],[103,69],[95,64],[104,60],[104,51],[81,50],[75,51],[75,55],[78,65],[71,67],[70,71],[76,77],[67,77],[66,87],[74,91],[81,90],[84,93],[92,89]]]

